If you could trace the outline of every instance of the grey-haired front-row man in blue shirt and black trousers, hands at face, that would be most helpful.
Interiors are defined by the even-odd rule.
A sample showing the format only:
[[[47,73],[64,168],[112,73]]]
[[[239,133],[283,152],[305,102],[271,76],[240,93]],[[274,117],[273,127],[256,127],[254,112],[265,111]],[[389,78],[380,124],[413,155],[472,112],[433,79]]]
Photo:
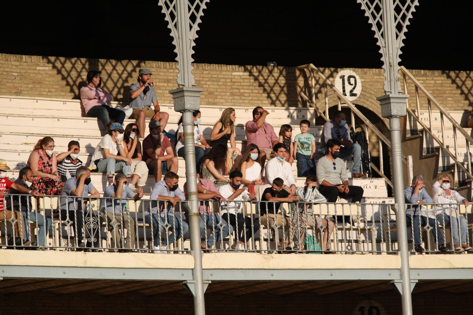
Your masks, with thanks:
[[[86,218],[91,219],[91,238],[93,238],[93,244],[90,240],[88,240],[87,247],[92,247],[92,245],[93,247],[98,247],[98,217],[90,210],[84,213],[86,210],[84,209],[84,198],[96,198],[100,197],[100,194],[90,182],[90,170],[86,166],[80,166],[76,171],[76,176],[69,178],[66,181],[64,184],[64,189],[62,190],[62,196],[63,197],[60,198],[61,220],[67,221],[69,219],[69,221],[72,223],[72,229],[74,230],[74,235],[77,238],[78,250],[83,250],[83,248],[86,247],[86,244],[82,241],[84,239],[82,233],[84,215]],[[92,249],[90,251],[98,252],[101,250]]]

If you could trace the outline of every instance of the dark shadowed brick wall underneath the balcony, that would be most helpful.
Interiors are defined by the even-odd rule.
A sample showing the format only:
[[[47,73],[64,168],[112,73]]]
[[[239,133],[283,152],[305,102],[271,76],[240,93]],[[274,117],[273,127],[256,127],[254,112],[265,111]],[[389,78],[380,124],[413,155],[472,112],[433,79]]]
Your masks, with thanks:
[[[211,284],[210,284],[211,285]],[[334,284],[336,285],[336,284]],[[126,293],[97,295],[87,292],[56,295],[44,291],[9,295],[0,294],[1,315],[16,314],[175,314],[191,315],[193,297],[190,294],[163,294],[148,296]],[[470,314],[468,293],[452,294],[446,291],[412,295],[414,314]],[[365,302],[365,303],[363,303]],[[368,315],[369,303],[380,309],[381,315],[402,313],[401,296],[394,289],[383,293],[360,295],[350,294],[317,295],[311,292],[278,296],[258,293],[233,296],[206,294],[207,315],[303,315],[323,313],[328,315]],[[374,303],[373,303],[374,302]],[[360,309],[363,305],[367,305]],[[376,311],[372,314],[377,314]]]

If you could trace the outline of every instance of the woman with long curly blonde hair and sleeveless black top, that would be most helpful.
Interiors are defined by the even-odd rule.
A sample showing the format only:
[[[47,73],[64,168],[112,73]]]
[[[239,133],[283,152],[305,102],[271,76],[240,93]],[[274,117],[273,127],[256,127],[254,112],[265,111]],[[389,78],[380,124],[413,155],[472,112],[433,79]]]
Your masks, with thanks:
[[[241,151],[236,148],[235,121],[235,109],[228,107],[222,112],[219,121],[213,126],[210,133],[210,147],[217,144],[223,144],[228,147],[228,141],[230,141],[230,148],[227,149],[225,175],[228,175],[241,160]]]

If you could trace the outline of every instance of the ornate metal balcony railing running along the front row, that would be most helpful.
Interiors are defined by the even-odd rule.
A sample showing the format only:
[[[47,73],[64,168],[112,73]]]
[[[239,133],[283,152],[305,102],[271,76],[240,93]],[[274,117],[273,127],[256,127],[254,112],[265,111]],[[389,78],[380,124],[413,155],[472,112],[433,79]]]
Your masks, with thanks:
[[[7,195],[6,198],[12,200],[18,195]],[[14,211],[15,215],[9,218],[4,216],[0,220],[0,246],[90,252],[189,253],[185,201],[178,202],[171,215],[161,216],[163,212],[158,212],[151,219],[146,208],[156,200],[76,197],[79,210],[70,210],[63,202],[66,206],[56,211],[60,198],[46,196],[40,199],[39,208],[38,203],[33,202],[32,206],[26,205],[27,211]],[[105,199],[124,211],[107,214]],[[167,201],[163,202],[166,205]],[[276,208],[277,204],[269,201],[236,201],[236,205],[228,202],[223,206],[218,201],[199,202],[204,206],[201,213],[201,244],[204,251],[265,254],[397,252],[392,203],[283,202]],[[418,205],[407,205],[411,206]],[[440,244],[433,242],[431,232],[438,227],[448,250],[454,250],[455,235],[464,236],[466,233],[465,244],[469,245],[469,230],[473,228],[473,223],[468,223],[468,217],[472,217],[471,207],[449,204],[448,209],[454,209],[446,216],[436,216],[436,207],[438,205],[428,205],[420,211],[421,216],[431,218],[430,222],[420,219],[416,227],[420,233],[420,244],[427,252],[437,252]],[[210,211],[205,212],[205,209]],[[43,228],[43,217],[50,228]],[[412,215],[410,219],[417,222]],[[455,220],[460,220],[461,224],[455,225]],[[450,228],[449,222],[454,222],[453,228]],[[412,252],[415,252],[414,232],[415,228],[411,228]],[[15,238],[16,242],[10,241],[8,244]],[[460,243],[462,245],[463,240]]]

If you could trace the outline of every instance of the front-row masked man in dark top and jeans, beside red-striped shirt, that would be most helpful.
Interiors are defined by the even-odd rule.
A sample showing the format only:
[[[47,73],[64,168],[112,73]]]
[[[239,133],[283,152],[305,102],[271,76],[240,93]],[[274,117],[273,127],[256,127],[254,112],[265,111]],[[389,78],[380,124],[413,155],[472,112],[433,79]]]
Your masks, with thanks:
[[[15,184],[18,184],[26,189],[29,190],[29,186],[31,186],[33,182],[33,172],[29,167],[23,167],[20,170],[20,174],[18,179],[15,181]],[[44,246],[46,245],[46,237],[48,237],[48,231],[51,227],[51,219],[45,218],[41,213],[39,213],[39,209],[36,211],[33,209],[33,204],[31,203],[31,197],[28,196],[29,193],[26,195],[18,191],[17,189],[12,189],[10,191],[11,194],[21,194],[22,196],[12,196],[7,197],[7,208],[12,209],[15,211],[21,211],[23,215],[23,222],[25,228],[25,240],[31,241],[28,232],[29,221],[37,222],[39,226],[38,230],[38,242],[32,243],[32,246]],[[39,194],[39,197],[43,197],[44,194]],[[46,224],[44,224],[46,223]]]

